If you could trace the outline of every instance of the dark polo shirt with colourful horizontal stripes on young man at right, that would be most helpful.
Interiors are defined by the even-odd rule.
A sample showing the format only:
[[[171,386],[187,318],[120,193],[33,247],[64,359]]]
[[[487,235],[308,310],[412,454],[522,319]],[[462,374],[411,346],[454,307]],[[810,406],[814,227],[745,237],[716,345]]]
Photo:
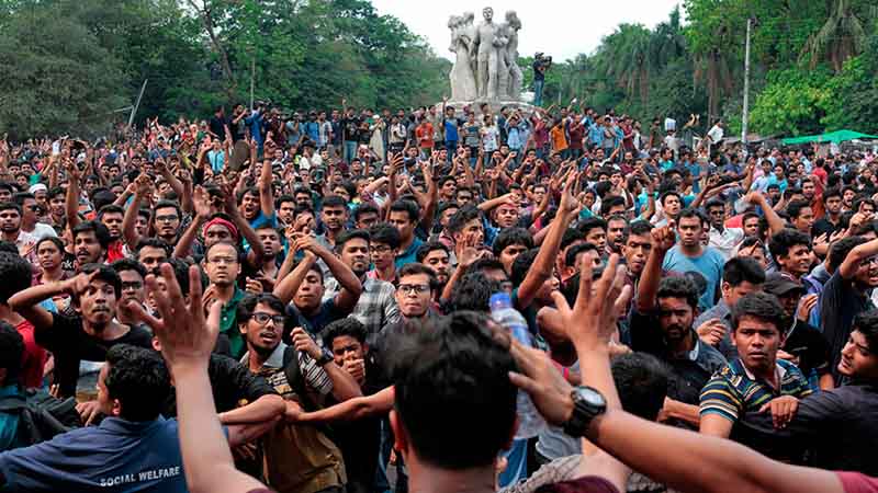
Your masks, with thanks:
[[[808,379],[796,365],[783,359],[778,359],[776,365],[779,389],[753,376],[741,358],[730,362],[701,390],[701,415],[719,414],[736,422],[746,412],[758,412],[772,399],[780,395],[801,399],[811,393]]]

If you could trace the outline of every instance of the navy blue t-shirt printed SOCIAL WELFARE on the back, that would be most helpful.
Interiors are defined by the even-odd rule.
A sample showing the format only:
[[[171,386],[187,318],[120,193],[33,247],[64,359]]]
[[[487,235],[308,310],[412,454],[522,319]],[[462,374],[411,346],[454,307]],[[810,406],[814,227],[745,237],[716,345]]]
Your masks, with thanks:
[[[100,426],[0,454],[0,473],[12,491],[189,491],[177,420],[134,422],[105,417]]]

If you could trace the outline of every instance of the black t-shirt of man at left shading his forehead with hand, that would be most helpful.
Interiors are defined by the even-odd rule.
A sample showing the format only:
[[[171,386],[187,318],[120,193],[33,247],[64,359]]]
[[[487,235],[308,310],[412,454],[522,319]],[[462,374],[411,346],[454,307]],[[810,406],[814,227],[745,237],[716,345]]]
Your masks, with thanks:
[[[36,343],[55,357],[55,382],[61,397],[76,395],[79,362],[106,360],[106,352],[116,344],[151,348],[153,336],[143,326],[134,325],[121,337],[105,341],[86,333],[81,317],[54,313],[49,329],[35,329]]]

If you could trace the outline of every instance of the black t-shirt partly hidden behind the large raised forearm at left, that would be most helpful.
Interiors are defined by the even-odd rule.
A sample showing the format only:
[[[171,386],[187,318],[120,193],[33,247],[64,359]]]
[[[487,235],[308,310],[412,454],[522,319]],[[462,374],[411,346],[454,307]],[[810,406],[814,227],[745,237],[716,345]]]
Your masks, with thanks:
[[[264,378],[254,374],[243,364],[218,354],[212,354],[207,365],[213,400],[216,412],[232,411],[241,405],[241,401],[250,403],[262,395],[278,393]],[[165,417],[177,416],[177,395],[171,392],[161,412]]]

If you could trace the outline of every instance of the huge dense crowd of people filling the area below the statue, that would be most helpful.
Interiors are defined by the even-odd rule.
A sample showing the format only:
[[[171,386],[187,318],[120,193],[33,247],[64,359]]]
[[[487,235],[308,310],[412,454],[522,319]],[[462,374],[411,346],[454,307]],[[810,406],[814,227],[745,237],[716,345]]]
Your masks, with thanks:
[[[878,159],[642,128],[342,100],[3,139],[0,484],[878,491]]]

